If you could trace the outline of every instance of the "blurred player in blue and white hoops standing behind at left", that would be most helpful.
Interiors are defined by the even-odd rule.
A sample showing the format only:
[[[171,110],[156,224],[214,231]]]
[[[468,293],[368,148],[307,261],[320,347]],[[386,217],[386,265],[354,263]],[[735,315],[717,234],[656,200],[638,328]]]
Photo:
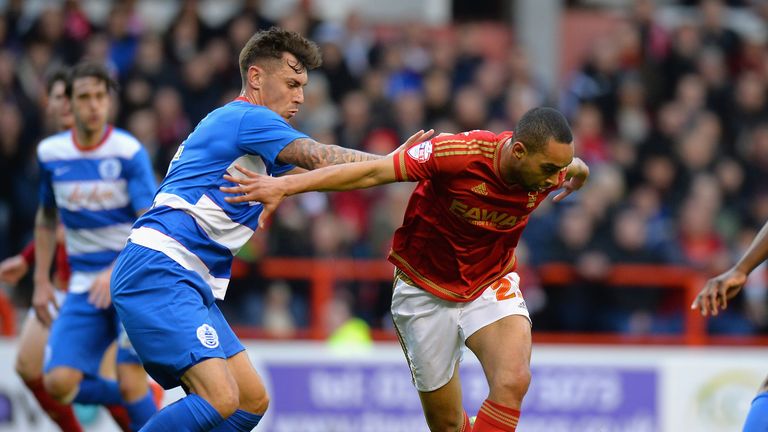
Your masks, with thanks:
[[[51,325],[46,347],[46,390],[62,403],[125,406],[138,430],[156,412],[146,373],[135,353],[120,344],[118,382],[99,377],[99,364],[120,332],[111,306],[111,267],[136,217],[151,204],[155,181],[149,157],[133,136],[107,124],[110,90],[106,68],[81,63],[70,72],[67,95],[74,128],[38,147],[40,208],[35,226],[35,293],[40,321]],[[50,268],[58,219],[65,228],[72,268],[69,293],[56,304]]]

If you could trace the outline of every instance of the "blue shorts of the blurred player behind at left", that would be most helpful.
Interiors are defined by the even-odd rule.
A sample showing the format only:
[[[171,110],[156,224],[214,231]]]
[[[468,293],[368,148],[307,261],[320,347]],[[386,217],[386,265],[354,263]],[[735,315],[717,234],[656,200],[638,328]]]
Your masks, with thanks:
[[[87,292],[68,293],[51,326],[44,370],[65,366],[97,376],[104,352],[121,334],[114,306],[99,309],[88,302]],[[140,363],[129,343],[118,343],[117,363]]]

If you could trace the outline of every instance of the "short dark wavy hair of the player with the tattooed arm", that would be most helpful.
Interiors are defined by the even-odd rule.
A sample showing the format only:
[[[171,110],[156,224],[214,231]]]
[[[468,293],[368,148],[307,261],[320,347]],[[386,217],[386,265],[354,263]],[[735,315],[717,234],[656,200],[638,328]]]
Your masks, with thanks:
[[[317,44],[296,32],[272,27],[251,36],[240,51],[240,77],[243,83],[247,80],[248,68],[257,61],[279,60],[285,52],[293,54],[299,60],[299,64],[294,67],[297,73],[304,69],[315,69],[323,63]]]

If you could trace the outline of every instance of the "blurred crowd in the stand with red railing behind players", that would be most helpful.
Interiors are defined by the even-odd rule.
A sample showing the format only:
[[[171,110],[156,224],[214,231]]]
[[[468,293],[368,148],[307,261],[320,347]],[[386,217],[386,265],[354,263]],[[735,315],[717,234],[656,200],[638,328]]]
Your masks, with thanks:
[[[0,259],[32,237],[48,72],[108,64],[114,123],[161,179],[237,96],[245,41],[278,25],[322,49],[293,121],[321,142],[384,154],[418,129],[501,132],[540,105],[568,117],[592,175],[523,236],[534,341],[762,346],[764,265],[717,319],[689,305],[768,220],[766,20],[765,0],[0,0]],[[259,340],[391,344],[385,257],[412,188],[286,200],[236,258],[230,323]],[[12,336],[31,281],[6,288]]]

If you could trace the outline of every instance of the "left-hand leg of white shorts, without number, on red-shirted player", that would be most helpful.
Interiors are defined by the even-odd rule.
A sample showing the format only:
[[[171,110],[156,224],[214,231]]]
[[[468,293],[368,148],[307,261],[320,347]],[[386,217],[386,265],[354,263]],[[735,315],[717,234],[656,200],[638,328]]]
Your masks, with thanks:
[[[431,392],[453,377],[463,339],[456,303],[395,278],[392,321],[416,389]]]

